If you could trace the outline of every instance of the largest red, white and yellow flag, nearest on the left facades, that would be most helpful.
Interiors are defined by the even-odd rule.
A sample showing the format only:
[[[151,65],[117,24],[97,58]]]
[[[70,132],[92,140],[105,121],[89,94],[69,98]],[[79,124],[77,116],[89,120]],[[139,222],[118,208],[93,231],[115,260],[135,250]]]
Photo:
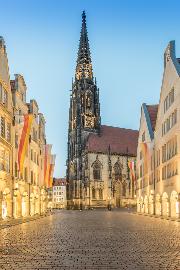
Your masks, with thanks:
[[[26,156],[33,115],[19,116],[17,170],[22,172]]]

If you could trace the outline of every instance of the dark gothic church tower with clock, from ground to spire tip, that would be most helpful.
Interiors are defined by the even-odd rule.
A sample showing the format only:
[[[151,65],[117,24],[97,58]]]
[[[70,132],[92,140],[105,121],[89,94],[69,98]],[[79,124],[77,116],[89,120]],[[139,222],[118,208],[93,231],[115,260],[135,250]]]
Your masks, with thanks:
[[[75,79],[69,109],[68,157],[66,175],[67,209],[81,210],[82,161],[89,134],[101,136],[99,88],[93,78],[91,55],[86,29],[86,15],[82,14],[82,28],[78,49]],[[74,201],[73,201],[74,200]]]

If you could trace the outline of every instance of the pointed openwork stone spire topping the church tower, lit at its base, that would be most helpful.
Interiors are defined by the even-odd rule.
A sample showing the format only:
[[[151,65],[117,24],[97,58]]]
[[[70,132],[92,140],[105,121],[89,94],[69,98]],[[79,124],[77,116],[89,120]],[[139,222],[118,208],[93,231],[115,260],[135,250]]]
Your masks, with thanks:
[[[84,79],[87,83],[91,81],[93,83],[93,72],[91,64],[91,56],[89,50],[88,34],[86,29],[86,14],[83,11],[82,14],[82,28],[79,42],[78,60],[76,66],[76,79]]]

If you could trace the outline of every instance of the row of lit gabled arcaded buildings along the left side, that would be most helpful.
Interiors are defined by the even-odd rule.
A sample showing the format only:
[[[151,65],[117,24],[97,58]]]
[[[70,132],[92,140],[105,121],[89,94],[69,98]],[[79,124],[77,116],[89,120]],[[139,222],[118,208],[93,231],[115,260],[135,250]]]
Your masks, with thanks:
[[[20,74],[10,80],[4,39],[0,37],[0,219],[23,217],[46,209],[41,186],[45,120],[36,100],[26,103],[26,84]],[[17,171],[19,115],[33,115],[23,170]],[[16,188],[18,184],[18,188]]]

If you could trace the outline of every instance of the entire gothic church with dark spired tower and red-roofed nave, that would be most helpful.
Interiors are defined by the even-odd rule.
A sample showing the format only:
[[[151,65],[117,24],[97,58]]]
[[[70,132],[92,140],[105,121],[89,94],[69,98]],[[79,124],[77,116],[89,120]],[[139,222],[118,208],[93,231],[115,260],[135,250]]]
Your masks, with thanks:
[[[99,88],[93,77],[83,12],[69,110],[67,210],[136,204],[127,161],[136,160],[139,131],[101,125],[100,113]]]

